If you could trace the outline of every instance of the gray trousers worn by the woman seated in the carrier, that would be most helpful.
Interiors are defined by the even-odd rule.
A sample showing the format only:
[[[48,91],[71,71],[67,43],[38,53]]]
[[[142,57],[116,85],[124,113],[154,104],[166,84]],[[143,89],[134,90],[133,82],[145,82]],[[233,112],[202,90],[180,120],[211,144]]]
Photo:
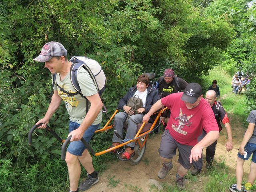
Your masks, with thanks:
[[[123,132],[124,132],[124,123],[126,119],[128,118],[128,114],[126,112],[119,112],[115,115],[114,118],[114,128],[117,130],[117,133],[123,138]],[[125,139],[132,139],[135,137],[137,132],[137,124],[140,124],[142,122],[142,114],[136,114],[130,116],[128,119],[128,128],[126,132]],[[132,122],[132,120],[134,122]],[[116,134],[113,135],[112,142],[120,142],[121,140],[116,136]],[[129,147],[134,147],[135,142],[130,142],[127,144]]]

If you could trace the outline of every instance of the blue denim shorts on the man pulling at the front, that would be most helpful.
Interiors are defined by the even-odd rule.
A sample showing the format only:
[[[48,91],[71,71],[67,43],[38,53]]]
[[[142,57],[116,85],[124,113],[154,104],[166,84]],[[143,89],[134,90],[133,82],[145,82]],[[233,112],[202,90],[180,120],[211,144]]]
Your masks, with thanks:
[[[94,132],[98,129],[99,125],[100,124],[90,125],[90,127],[88,127],[88,129],[86,129],[86,131],[84,132],[84,136],[83,136],[83,138],[84,138],[84,140],[86,140],[86,142],[89,143],[90,139],[92,138]],[[78,124],[77,122],[69,121],[68,131],[71,132],[73,130],[76,130],[79,126],[80,126],[80,124]],[[72,142],[70,142],[67,151],[73,155],[81,156],[85,149],[86,149],[86,147],[84,146],[82,141],[72,141]]]

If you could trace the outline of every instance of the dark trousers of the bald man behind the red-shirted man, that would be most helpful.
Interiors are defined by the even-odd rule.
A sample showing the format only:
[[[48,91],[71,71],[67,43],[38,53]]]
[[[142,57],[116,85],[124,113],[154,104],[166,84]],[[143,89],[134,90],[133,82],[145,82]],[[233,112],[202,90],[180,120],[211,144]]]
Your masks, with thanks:
[[[202,131],[202,134],[197,138],[198,142],[200,142],[204,136],[206,136],[206,132]],[[216,144],[217,144],[217,140],[214,141],[212,144],[210,144],[207,148],[206,148],[206,161],[208,163],[212,162],[214,155],[215,155],[215,150],[216,150]],[[203,156],[203,154],[202,154]],[[194,168],[201,170],[202,166],[203,166],[203,158],[201,157],[198,161],[194,162],[192,161],[192,164],[194,166]]]

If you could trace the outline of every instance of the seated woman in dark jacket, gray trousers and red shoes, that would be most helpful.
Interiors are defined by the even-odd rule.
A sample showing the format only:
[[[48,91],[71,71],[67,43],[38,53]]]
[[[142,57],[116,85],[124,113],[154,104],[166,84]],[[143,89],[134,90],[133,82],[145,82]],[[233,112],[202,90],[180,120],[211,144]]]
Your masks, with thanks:
[[[134,114],[134,111],[130,111],[131,107],[127,106],[129,98],[138,95],[142,99],[143,107],[137,110],[138,114]],[[126,95],[119,100],[118,108],[124,110],[124,112],[119,112],[115,115],[114,118],[114,128],[117,130],[117,133],[123,138],[124,132],[124,123],[128,118],[128,113],[131,113],[131,116],[128,118],[128,129],[126,132],[125,139],[134,138],[137,132],[137,124],[142,123],[143,113],[147,113],[151,106],[159,100],[158,91],[149,86],[149,78],[147,75],[143,74],[138,77],[137,85],[130,88]],[[113,135],[111,147],[117,146],[120,144],[121,139]],[[130,142],[127,144],[125,152],[120,156],[121,160],[130,160],[135,153],[134,151],[135,142]]]

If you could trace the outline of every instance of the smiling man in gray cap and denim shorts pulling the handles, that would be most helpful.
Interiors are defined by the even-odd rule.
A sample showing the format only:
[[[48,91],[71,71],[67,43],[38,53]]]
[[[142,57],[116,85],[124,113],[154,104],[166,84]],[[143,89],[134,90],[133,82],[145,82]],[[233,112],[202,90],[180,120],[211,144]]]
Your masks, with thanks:
[[[59,42],[48,42],[43,46],[40,55],[34,58],[34,61],[44,62],[44,67],[48,68],[51,74],[56,75],[56,84],[53,87],[54,93],[51,103],[44,118],[39,120],[36,124],[42,123],[42,126],[38,128],[46,128],[46,124],[48,124],[61,101],[63,100],[65,102],[66,109],[70,116],[70,133],[68,136],[72,135],[66,153],[70,192],[78,192],[78,182],[81,174],[80,163],[86,169],[88,178],[80,184],[79,190],[87,190],[98,182],[99,176],[92,165],[92,157],[80,139],[83,137],[84,140],[89,142],[102,120],[102,102],[96,86],[88,72],[84,68],[81,68],[78,72],[78,83],[82,95],[85,96],[90,103],[86,114],[85,98],[80,94],[70,96],[60,90],[60,88],[63,88],[67,92],[76,92],[70,80],[70,67],[72,63],[67,59],[67,50],[64,46]]]

